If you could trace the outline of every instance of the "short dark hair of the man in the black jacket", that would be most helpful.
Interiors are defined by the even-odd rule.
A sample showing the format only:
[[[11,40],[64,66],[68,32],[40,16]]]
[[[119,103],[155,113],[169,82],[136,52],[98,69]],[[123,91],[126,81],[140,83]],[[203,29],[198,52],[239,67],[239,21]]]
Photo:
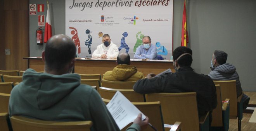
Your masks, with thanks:
[[[183,55],[182,57],[180,57],[180,55],[184,54],[184,53],[189,53],[187,55]],[[180,59],[178,59],[178,57],[180,57]],[[180,46],[177,47],[174,51],[173,51],[173,62],[178,59],[178,64],[180,67],[183,66],[191,66],[192,64],[192,50],[188,47],[185,46]]]

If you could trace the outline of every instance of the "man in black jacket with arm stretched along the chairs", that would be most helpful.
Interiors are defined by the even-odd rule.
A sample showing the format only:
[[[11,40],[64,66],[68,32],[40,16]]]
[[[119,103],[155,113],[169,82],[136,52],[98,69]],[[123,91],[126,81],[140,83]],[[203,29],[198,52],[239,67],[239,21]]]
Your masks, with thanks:
[[[196,92],[199,117],[212,111],[217,106],[216,88],[209,76],[197,74],[190,67],[192,50],[178,47],[173,51],[175,73],[165,73],[155,77],[148,74],[147,79],[138,80],[133,86],[134,91],[147,94],[153,92]]]

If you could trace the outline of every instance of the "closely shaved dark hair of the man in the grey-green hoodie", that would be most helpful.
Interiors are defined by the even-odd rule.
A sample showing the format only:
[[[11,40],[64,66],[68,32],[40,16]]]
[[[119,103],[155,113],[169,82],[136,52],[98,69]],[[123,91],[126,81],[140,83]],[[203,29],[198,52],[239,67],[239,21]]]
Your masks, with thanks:
[[[67,35],[58,35],[62,39],[51,37],[45,45],[45,64],[50,69],[62,69],[62,67],[74,59],[76,46]]]

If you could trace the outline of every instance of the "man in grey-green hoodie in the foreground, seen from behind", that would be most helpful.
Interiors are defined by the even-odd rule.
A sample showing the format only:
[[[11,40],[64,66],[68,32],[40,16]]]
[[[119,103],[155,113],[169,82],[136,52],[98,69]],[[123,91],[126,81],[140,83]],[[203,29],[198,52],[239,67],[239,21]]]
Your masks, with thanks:
[[[45,121],[92,121],[92,131],[119,131],[99,93],[80,84],[73,70],[76,47],[68,36],[54,35],[45,45],[44,73],[27,69],[22,82],[12,89],[10,116],[19,115]],[[140,131],[149,119],[139,115],[127,131]]]

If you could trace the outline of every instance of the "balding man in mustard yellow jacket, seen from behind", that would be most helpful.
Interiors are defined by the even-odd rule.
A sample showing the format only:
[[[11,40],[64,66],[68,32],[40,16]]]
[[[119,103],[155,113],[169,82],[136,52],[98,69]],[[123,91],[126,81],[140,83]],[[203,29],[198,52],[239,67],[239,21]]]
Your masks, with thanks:
[[[107,71],[103,78],[108,81],[137,81],[144,78],[142,72],[138,72],[136,67],[131,66],[130,55],[120,53],[116,61],[117,66],[113,71]]]

